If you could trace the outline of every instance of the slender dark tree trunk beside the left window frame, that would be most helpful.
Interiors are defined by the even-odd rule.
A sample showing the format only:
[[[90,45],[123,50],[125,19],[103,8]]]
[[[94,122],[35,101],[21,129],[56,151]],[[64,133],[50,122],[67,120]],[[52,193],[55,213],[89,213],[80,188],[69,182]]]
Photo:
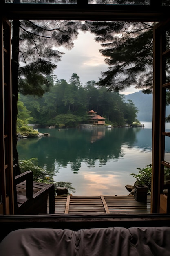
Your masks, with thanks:
[[[13,20],[12,34],[12,135],[13,135],[13,165],[15,175],[20,174],[18,152],[17,152],[17,102],[18,102],[18,68],[19,68],[19,28],[20,21]]]

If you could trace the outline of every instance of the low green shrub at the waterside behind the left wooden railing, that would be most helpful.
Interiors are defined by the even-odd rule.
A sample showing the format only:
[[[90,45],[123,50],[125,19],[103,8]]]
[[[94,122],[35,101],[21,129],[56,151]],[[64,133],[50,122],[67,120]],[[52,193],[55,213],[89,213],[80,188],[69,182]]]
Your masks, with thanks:
[[[53,176],[48,171],[38,166],[38,159],[31,158],[28,160],[19,161],[20,171],[24,173],[26,171],[33,172],[33,180],[37,182],[52,183]]]

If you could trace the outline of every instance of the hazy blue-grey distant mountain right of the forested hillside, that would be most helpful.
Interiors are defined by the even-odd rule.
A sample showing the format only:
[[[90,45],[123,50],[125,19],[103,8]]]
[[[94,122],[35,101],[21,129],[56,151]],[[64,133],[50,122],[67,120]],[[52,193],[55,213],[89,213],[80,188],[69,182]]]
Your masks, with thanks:
[[[141,91],[124,95],[125,102],[131,99],[138,109],[137,119],[139,121],[152,122],[152,94],[144,94]]]

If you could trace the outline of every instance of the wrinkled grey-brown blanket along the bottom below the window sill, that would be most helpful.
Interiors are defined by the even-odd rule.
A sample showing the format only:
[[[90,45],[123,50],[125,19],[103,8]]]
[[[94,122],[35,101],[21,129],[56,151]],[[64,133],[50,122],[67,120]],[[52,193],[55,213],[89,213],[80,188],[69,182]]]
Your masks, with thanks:
[[[30,228],[9,233],[0,256],[170,256],[170,227]]]

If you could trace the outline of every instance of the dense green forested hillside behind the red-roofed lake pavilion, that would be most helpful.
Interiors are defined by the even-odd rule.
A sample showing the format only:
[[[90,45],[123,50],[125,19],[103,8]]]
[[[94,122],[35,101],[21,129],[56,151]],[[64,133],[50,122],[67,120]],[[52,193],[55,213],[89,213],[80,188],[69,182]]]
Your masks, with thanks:
[[[71,76],[69,83],[58,80],[42,97],[20,94],[20,101],[31,112],[33,123],[42,126],[87,124],[87,112],[91,109],[105,117],[106,124],[132,124],[137,117],[131,100],[125,102],[122,94],[97,87],[95,81],[82,86],[77,74]]]

